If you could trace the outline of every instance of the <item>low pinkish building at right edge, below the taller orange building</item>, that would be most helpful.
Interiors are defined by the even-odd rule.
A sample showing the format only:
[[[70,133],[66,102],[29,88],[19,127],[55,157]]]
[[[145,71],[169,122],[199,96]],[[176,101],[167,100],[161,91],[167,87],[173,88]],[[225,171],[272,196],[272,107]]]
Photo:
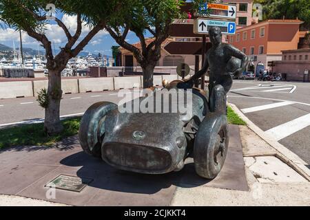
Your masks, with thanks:
[[[272,71],[287,74],[287,80],[309,82],[310,48],[283,50],[282,61],[273,62]]]

